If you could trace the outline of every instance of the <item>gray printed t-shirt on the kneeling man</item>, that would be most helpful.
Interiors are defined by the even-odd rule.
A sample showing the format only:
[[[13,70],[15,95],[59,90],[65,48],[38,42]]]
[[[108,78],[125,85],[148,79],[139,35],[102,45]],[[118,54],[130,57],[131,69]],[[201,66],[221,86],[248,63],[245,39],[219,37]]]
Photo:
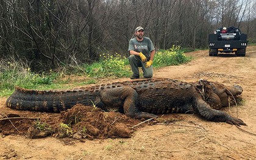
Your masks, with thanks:
[[[130,39],[128,51],[130,50],[134,50],[135,52],[142,52],[146,56],[147,60],[149,60],[150,52],[155,50],[155,47],[151,39],[148,37],[143,37],[143,41],[138,41],[135,37]]]

